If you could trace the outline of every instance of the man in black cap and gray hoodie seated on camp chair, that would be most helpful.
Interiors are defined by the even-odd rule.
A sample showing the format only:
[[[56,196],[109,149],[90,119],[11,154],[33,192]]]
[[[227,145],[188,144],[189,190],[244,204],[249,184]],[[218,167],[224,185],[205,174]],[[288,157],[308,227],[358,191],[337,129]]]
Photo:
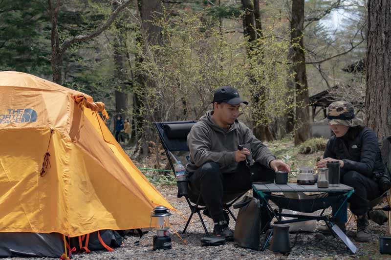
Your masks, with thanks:
[[[290,169],[238,121],[240,104],[248,102],[240,98],[235,88],[218,88],[212,103],[213,111],[208,111],[188,135],[187,172],[191,190],[201,194],[215,223],[214,234],[233,240],[223,203],[251,189],[253,181],[273,181],[275,171]],[[245,143],[250,144],[250,150],[239,150],[238,145]],[[255,160],[251,167],[244,163],[250,154]]]

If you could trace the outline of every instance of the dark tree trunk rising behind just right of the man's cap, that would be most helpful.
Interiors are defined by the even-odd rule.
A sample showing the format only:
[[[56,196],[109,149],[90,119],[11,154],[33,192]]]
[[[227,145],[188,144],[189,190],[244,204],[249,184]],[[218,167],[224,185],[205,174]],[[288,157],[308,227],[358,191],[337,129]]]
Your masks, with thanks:
[[[257,61],[258,65],[262,64],[263,53],[262,50],[255,50],[257,48],[257,42],[255,42],[259,37],[262,37],[262,24],[261,24],[261,12],[259,6],[259,0],[241,0],[244,10],[243,15],[243,33],[245,37],[248,37],[249,47],[247,49],[247,55],[250,59],[257,56],[259,60]],[[254,52],[255,51],[255,52]],[[274,140],[272,133],[265,120],[266,115],[265,111],[265,101],[266,101],[266,86],[259,82],[254,75],[250,72],[249,75],[251,82],[251,101],[252,109],[257,112],[253,116],[253,132],[256,138],[259,140]]]

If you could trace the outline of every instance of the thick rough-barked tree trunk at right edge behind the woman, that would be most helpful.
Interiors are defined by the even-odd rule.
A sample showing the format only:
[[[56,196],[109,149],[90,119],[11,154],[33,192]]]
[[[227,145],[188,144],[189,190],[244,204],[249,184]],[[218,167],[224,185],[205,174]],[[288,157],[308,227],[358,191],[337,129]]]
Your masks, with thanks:
[[[368,1],[366,125],[391,135],[391,1]]]

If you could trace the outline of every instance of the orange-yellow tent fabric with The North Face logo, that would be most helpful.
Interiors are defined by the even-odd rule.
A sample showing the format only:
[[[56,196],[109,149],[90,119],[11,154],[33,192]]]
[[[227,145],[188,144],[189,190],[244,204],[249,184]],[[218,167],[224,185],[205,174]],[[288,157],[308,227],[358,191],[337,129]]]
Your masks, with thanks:
[[[174,210],[75,95],[93,102],[48,80],[0,72],[0,232],[75,237],[146,228],[155,206]]]

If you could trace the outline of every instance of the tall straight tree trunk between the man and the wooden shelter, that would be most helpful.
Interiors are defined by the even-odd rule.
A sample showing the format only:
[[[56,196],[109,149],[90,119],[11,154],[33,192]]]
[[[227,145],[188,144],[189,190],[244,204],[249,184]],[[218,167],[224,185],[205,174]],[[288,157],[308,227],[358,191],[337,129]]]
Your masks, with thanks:
[[[304,55],[304,0],[292,1],[291,42],[296,85],[295,145],[311,136],[309,126],[309,97]]]

